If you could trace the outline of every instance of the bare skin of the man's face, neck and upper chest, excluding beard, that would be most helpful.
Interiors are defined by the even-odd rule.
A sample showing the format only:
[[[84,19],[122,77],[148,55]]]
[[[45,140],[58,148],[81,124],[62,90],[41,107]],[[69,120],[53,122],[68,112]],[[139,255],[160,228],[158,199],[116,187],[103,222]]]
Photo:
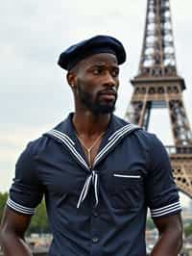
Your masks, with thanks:
[[[84,106],[79,96],[78,84],[81,90],[90,94],[92,102],[98,97],[98,93],[106,92],[99,96],[102,105],[115,103],[114,95],[110,90],[118,90],[119,67],[116,57],[112,54],[97,54],[86,58],[67,74],[68,84],[74,93],[75,115],[73,124],[86,147],[90,147],[97,138],[103,134],[108,127],[110,114],[93,114]],[[91,150],[91,164],[98,152],[100,141]],[[83,147],[84,149],[84,147]],[[84,150],[84,154],[87,152]]]

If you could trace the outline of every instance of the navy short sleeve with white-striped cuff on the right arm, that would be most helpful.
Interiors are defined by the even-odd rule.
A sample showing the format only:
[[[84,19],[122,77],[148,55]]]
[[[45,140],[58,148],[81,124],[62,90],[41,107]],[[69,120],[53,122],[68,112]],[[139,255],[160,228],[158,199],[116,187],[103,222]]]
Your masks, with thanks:
[[[152,135],[148,171],[147,204],[152,218],[180,212],[179,192],[174,181],[169,156],[155,135]]]

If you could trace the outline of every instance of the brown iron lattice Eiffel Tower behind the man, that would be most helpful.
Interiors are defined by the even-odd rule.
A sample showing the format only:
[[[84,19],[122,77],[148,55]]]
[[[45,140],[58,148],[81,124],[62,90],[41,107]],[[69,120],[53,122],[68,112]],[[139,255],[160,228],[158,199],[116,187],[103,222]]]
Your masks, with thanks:
[[[148,130],[153,108],[166,108],[174,138],[165,145],[175,181],[192,198],[192,132],[185,112],[184,79],[177,71],[169,0],[148,0],[143,46],[126,119]]]

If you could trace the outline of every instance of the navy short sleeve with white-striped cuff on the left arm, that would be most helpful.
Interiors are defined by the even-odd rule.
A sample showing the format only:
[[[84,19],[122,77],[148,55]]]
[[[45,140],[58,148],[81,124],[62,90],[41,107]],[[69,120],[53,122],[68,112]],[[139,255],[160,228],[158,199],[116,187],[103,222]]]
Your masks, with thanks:
[[[36,173],[35,142],[31,142],[15,165],[15,176],[7,205],[18,213],[34,215],[42,196],[42,186]]]

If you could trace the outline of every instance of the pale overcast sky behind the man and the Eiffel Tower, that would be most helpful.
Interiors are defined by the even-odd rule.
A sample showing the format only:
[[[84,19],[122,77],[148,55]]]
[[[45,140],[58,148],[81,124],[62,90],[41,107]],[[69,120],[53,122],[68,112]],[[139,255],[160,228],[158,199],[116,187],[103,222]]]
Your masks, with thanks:
[[[110,35],[128,53],[121,67],[116,115],[124,116],[136,75],[147,0],[7,0],[0,9],[0,191],[12,182],[15,161],[28,141],[39,137],[73,111],[60,52],[84,38]],[[192,124],[192,2],[171,0],[178,70],[186,82],[185,107]],[[166,112],[156,112],[151,129],[165,143]],[[163,125],[162,125],[163,123]],[[163,134],[164,133],[164,134]],[[171,139],[170,139],[171,140]]]

